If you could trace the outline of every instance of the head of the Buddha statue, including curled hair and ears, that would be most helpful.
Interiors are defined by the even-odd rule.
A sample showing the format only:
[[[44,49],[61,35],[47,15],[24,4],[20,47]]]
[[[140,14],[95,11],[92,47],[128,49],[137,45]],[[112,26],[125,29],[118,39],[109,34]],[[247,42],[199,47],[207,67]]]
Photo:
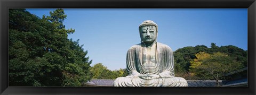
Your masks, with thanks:
[[[139,26],[140,38],[142,42],[155,42],[157,38],[158,26],[155,22],[146,20]]]

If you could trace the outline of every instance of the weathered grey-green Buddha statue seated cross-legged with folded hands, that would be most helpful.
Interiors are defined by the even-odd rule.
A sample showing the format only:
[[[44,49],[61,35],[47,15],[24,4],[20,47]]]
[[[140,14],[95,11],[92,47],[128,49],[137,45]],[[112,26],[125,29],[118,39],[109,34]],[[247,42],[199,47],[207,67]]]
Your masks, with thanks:
[[[118,77],[115,87],[188,87],[182,77],[174,77],[172,49],[157,42],[158,25],[150,20],[139,26],[141,43],[127,51],[129,75]]]

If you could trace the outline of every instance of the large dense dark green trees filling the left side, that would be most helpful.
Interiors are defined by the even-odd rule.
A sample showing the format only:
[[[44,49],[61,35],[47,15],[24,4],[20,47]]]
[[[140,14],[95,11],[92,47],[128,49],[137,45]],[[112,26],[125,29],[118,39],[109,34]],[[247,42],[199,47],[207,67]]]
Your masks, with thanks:
[[[9,86],[81,86],[92,78],[89,57],[68,39],[62,9],[42,19],[9,9]]]

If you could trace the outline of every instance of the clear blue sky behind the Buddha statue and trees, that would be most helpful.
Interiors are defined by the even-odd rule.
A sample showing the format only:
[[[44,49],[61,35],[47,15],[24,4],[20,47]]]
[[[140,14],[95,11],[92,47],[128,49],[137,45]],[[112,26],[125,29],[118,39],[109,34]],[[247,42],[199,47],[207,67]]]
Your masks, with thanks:
[[[28,8],[42,18],[53,8]],[[158,24],[158,42],[173,51],[196,45],[234,45],[247,50],[247,8],[65,8],[68,38],[80,39],[92,65],[102,63],[110,70],[126,67],[126,52],[139,44],[138,27],[145,20]],[[175,56],[175,55],[174,55]]]

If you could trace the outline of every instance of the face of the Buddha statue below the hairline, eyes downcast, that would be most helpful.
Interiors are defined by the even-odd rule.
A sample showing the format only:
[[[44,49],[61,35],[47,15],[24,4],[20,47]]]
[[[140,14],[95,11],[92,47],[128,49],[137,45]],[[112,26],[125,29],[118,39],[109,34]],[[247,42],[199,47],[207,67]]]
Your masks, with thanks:
[[[143,42],[154,42],[157,38],[156,27],[152,26],[143,26],[140,27],[140,38]]]

